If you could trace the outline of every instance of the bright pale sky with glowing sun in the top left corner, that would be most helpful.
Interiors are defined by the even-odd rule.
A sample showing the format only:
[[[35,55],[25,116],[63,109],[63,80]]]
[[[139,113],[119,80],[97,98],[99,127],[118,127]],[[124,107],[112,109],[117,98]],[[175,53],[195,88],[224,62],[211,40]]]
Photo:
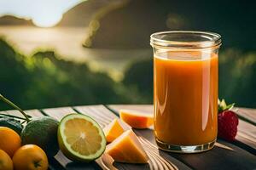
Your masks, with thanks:
[[[32,20],[38,27],[52,27],[58,24],[62,15],[84,0],[1,0],[0,17],[13,15]]]

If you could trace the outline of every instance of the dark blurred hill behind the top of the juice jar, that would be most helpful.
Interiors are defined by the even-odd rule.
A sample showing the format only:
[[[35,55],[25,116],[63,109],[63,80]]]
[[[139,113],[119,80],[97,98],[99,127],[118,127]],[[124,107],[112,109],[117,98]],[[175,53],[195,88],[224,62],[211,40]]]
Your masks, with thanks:
[[[85,47],[149,48],[155,31],[214,31],[222,48],[256,49],[256,1],[130,0],[95,17]],[[108,8],[108,7],[106,7]]]

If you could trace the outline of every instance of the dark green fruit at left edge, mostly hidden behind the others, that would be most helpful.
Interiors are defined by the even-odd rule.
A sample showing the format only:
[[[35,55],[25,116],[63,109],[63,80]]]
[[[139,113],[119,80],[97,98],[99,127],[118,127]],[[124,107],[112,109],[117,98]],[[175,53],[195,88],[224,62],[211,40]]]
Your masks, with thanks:
[[[9,127],[18,134],[20,134],[23,129],[23,126],[20,123],[20,121],[17,121],[14,118],[7,117],[7,116],[0,118],[0,127]]]

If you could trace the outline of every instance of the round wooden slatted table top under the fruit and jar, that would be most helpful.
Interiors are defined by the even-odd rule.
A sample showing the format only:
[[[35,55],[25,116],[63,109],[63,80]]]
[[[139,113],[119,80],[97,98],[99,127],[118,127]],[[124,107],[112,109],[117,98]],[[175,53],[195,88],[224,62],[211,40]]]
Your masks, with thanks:
[[[52,116],[61,120],[70,113],[93,117],[105,127],[120,109],[134,109],[153,113],[152,105],[84,105],[54,109],[31,110],[26,113],[32,117]],[[238,108],[235,108],[238,109]],[[2,111],[6,114],[20,115],[18,111]],[[90,163],[75,163],[62,155],[61,151],[49,159],[49,169],[256,169],[256,109],[239,108],[236,111],[240,121],[235,142],[218,139],[212,150],[198,154],[174,154],[158,150],[152,129],[134,130],[137,133],[150,161],[147,165],[131,165],[109,162],[108,156]]]

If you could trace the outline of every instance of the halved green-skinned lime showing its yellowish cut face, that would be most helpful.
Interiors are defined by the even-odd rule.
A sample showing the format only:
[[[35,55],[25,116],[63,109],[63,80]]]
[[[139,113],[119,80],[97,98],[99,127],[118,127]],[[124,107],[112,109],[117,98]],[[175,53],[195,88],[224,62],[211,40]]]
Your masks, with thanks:
[[[106,149],[102,127],[79,114],[64,116],[58,129],[58,142],[62,153],[72,161],[93,161]]]

